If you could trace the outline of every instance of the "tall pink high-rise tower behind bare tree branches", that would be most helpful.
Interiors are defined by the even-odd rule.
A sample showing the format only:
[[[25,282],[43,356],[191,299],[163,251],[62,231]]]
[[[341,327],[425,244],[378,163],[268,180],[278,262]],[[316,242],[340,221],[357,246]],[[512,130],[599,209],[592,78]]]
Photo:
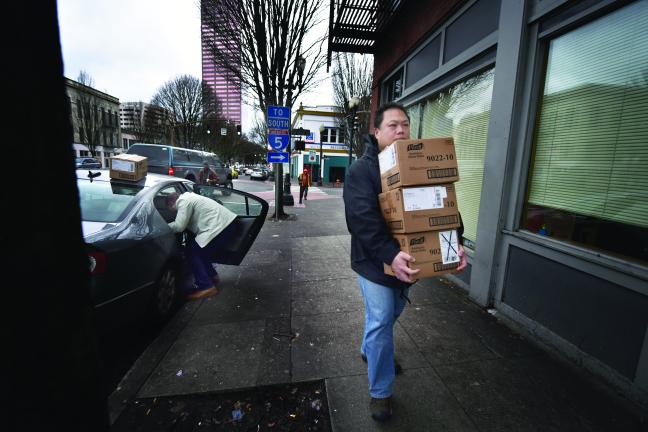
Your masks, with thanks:
[[[213,29],[203,20],[202,33],[202,80],[218,99],[218,114],[233,124],[241,124],[241,81],[228,69],[216,64],[211,47],[223,45],[222,36],[214,34]],[[240,63],[240,57],[239,63]]]

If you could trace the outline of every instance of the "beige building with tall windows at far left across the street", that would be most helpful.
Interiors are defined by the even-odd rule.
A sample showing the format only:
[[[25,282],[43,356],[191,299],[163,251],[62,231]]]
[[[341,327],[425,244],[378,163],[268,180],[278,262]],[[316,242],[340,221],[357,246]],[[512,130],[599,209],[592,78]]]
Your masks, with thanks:
[[[74,130],[75,156],[94,156],[107,166],[107,158],[123,150],[119,127],[119,99],[65,78]]]

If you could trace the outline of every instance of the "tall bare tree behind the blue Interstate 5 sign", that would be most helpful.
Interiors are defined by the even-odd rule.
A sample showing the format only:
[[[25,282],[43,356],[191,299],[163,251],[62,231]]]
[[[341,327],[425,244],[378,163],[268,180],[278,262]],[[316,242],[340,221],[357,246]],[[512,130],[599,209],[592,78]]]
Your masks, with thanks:
[[[324,18],[322,6],[323,0],[201,0],[203,43],[265,116],[269,105],[292,107],[317,84],[326,64],[326,35],[314,32]],[[285,217],[282,165],[276,170],[278,218]]]

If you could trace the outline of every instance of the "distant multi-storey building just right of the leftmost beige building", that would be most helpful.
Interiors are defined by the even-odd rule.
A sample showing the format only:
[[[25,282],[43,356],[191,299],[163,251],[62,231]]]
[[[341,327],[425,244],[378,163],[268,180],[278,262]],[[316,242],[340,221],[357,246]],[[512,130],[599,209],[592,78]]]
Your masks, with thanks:
[[[170,113],[162,107],[144,102],[124,102],[119,106],[119,123],[124,148],[132,141],[165,143]]]

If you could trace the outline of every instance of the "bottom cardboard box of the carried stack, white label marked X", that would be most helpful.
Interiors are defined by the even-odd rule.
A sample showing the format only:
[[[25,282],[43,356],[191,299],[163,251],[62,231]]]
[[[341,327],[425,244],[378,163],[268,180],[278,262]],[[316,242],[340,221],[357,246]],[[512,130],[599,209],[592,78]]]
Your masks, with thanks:
[[[416,259],[410,263],[410,268],[421,269],[416,279],[452,273],[459,266],[457,230],[396,234],[394,238],[402,251]],[[390,265],[384,264],[384,271],[394,275]]]

